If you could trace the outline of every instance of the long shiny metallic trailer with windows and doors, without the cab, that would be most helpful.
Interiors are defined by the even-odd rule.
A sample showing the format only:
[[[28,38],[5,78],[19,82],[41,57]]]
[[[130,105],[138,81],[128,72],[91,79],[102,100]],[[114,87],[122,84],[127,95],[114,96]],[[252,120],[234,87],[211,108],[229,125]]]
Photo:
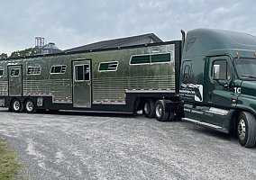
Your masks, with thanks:
[[[0,106],[14,112],[128,112],[178,102],[180,40],[0,61]]]

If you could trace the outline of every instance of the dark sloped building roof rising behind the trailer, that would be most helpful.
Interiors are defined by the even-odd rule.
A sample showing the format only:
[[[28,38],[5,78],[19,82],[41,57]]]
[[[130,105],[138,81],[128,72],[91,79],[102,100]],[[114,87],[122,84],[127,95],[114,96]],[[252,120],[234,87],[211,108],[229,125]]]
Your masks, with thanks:
[[[131,36],[126,38],[114,39],[114,40],[103,40],[95,43],[87,44],[84,46],[79,46],[77,48],[66,49],[64,52],[73,52],[80,50],[93,50],[93,49],[109,49],[109,48],[118,48],[125,46],[133,46],[139,44],[148,44],[162,42],[159,37],[154,33],[142,34],[138,36]]]

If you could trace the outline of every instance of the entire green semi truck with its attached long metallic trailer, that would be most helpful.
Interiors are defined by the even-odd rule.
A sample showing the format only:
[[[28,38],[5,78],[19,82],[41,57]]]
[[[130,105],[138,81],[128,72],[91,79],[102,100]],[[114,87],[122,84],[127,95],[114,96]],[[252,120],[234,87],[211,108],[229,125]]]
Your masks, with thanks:
[[[0,61],[0,106],[13,112],[142,111],[237,132],[256,143],[256,37],[197,29],[182,40]]]

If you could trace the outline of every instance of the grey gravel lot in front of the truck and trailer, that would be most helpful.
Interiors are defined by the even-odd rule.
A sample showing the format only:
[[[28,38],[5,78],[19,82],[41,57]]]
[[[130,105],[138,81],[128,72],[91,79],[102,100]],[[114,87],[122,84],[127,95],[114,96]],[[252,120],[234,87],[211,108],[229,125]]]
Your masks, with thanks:
[[[185,121],[1,108],[0,117],[0,136],[36,180],[256,178],[256,148]]]

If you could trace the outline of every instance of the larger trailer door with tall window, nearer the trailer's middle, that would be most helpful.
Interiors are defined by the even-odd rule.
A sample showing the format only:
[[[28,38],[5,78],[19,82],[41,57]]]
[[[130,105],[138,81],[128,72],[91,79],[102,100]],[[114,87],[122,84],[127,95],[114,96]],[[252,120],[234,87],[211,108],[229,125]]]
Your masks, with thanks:
[[[91,60],[76,60],[73,67],[73,106],[91,107]]]

